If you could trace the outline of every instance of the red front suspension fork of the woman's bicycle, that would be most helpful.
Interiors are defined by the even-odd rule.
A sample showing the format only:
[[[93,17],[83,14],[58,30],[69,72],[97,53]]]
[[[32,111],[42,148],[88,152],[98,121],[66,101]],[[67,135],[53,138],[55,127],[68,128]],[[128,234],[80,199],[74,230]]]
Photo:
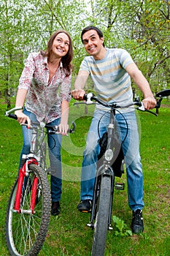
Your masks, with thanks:
[[[23,159],[22,159],[23,160]],[[25,159],[24,159],[25,161]],[[24,188],[24,178],[28,176],[27,170],[28,170],[28,165],[34,164],[38,165],[38,162],[36,162],[35,159],[28,159],[26,162],[24,162],[23,166],[20,167],[19,169],[19,176],[18,176],[18,187],[17,187],[17,192],[16,192],[16,197],[15,197],[15,206],[14,206],[14,211],[24,214],[34,214],[34,208],[35,208],[35,201],[36,201],[36,190],[37,190],[37,184],[38,184],[38,178],[35,176],[34,181],[32,184],[31,188],[31,201],[30,201],[30,206],[28,209],[21,209],[21,200],[22,200],[22,192],[25,189]],[[22,164],[21,164],[22,165]]]

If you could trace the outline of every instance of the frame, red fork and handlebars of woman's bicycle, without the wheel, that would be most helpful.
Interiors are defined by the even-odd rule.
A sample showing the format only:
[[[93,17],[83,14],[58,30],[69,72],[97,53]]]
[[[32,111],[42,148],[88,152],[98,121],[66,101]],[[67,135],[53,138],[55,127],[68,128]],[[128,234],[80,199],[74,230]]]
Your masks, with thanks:
[[[9,116],[11,118],[17,119],[17,116],[11,114],[15,110],[20,110],[19,108],[12,108],[12,110],[9,110],[5,113],[5,116]],[[23,124],[27,125],[27,124]],[[73,129],[70,129],[69,132],[74,132],[75,124],[72,122]],[[19,175],[18,175],[18,187],[16,192],[16,198],[15,198],[15,206],[14,211],[18,212],[18,214],[26,213],[26,214],[34,214],[34,207],[35,207],[35,200],[36,200],[36,189],[38,184],[38,178],[35,176],[34,181],[32,184],[32,191],[31,191],[31,203],[29,206],[29,209],[23,210],[20,209],[21,204],[21,195],[23,191],[23,181],[24,177],[28,176],[28,165],[34,164],[39,165],[42,167],[42,170],[47,170],[46,165],[46,140],[45,139],[45,127],[51,128],[53,131],[51,133],[55,133],[58,127],[50,127],[49,125],[45,125],[42,123],[32,123],[30,129],[32,129],[32,136],[31,136],[31,149],[30,153],[28,155],[23,154],[21,163],[20,163],[20,169],[19,169]],[[56,129],[56,130],[55,130]],[[50,133],[50,132],[48,132]],[[43,148],[43,150],[42,150]]]

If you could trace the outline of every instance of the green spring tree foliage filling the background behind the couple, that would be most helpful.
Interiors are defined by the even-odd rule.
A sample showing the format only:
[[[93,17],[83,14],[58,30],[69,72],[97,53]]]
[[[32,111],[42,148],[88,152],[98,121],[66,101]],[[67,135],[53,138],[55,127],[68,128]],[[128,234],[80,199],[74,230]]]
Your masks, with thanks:
[[[125,48],[150,82],[152,91],[170,87],[169,0],[1,0],[1,96],[9,102],[31,51],[44,50],[57,29],[74,44],[74,75],[85,56],[80,34],[98,26],[107,47]]]

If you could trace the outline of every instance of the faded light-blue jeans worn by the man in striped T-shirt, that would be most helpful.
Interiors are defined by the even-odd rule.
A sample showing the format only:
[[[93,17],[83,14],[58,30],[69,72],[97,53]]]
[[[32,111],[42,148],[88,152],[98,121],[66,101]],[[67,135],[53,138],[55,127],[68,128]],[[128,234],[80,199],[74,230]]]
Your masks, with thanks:
[[[115,115],[115,119],[117,121],[117,130],[120,134],[123,154],[125,157],[128,183],[128,205],[131,210],[136,211],[136,209],[142,209],[144,207],[143,174],[141,157],[139,153],[139,133],[134,111],[131,111],[130,113],[123,113],[123,116],[118,113]],[[98,121],[100,118],[101,121],[98,127]],[[128,134],[127,125],[125,122],[128,124]],[[108,124],[109,113],[106,113],[102,110],[96,110],[90,124],[88,138],[86,140],[86,148],[83,152],[81,200],[93,199],[93,185],[96,174],[96,162],[100,152],[100,146],[98,145],[98,131],[100,137],[102,137],[104,132],[107,131]]]

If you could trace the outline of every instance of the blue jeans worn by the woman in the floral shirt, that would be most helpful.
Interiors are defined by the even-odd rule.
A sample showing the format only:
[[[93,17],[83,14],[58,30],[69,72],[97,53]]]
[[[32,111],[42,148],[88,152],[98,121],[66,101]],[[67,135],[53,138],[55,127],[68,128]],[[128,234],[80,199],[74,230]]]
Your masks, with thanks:
[[[37,122],[36,115],[27,111],[26,108],[23,110],[26,116],[29,116],[31,121]],[[61,118],[55,119],[50,122],[49,125],[60,124]],[[31,129],[22,126],[23,130],[23,148],[20,154],[20,160],[23,154],[29,154],[31,147]],[[61,138],[62,135],[47,135],[48,147],[49,147],[49,159],[50,159],[50,169],[53,170],[53,175],[51,176],[51,198],[53,202],[61,200],[61,187],[62,187],[62,174],[61,174]],[[20,165],[19,165],[20,167]]]

